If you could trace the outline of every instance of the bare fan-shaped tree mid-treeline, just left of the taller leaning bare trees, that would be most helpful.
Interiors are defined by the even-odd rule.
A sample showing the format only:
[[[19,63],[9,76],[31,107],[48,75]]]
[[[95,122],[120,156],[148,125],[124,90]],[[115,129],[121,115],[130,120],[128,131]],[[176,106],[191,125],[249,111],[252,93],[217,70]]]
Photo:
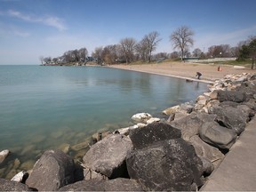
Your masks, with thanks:
[[[130,63],[134,57],[134,47],[136,40],[133,38],[124,38],[120,41],[121,51],[124,54],[126,63]]]

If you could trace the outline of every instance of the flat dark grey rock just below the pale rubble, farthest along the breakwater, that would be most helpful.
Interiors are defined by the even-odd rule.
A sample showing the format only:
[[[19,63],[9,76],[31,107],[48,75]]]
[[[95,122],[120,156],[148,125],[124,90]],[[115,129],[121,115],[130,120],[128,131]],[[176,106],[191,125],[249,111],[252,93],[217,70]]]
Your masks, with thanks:
[[[223,102],[225,100],[234,101],[234,102],[244,102],[245,101],[245,95],[244,92],[238,92],[238,91],[218,91],[218,100],[220,102]]]

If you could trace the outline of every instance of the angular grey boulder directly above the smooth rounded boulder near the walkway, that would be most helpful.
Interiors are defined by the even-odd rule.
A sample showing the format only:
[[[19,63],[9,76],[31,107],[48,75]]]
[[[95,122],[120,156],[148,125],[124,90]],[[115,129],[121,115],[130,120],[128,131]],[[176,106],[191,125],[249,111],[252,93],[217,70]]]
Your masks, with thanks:
[[[233,108],[231,106],[213,107],[211,113],[216,115],[216,121],[228,129],[232,129],[237,135],[244,132],[245,123],[249,117],[248,113],[242,108]]]

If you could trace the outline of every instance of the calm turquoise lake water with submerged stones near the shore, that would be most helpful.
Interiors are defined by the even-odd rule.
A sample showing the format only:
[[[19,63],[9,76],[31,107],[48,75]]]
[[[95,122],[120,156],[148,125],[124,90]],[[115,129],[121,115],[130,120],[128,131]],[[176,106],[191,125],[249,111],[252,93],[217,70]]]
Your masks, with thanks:
[[[0,66],[0,151],[12,152],[0,177],[31,169],[45,149],[69,146],[81,160],[81,145],[93,133],[127,127],[138,112],[162,116],[206,90],[207,84],[114,68]]]

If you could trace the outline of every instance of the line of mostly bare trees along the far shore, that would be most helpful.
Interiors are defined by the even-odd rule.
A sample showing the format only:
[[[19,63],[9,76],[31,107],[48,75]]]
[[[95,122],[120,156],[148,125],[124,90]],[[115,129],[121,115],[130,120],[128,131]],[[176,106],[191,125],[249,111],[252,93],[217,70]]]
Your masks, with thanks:
[[[92,56],[88,55],[87,49],[70,50],[64,52],[62,56],[51,58],[41,56],[42,64],[65,65],[67,63],[86,64],[88,61],[96,61],[98,64],[131,63],[133,61],[151,62],[152,60],[180,59],[195,57],[198,59],[208,59],[216,57],[236,57],[238,60],[255,60],[256,36],[250,36],[247,40],[239,42],[237,46],[231,47],[229,44],[212,45],[208,52],[199,48],[189,52],[189,48],[194,44],[194,32],[187,26],[181,26],[172,32],[170,42],[174,52],[156,52],[157,45],[162,39],[157,31],[150,32],[140,41],[133,37],[126,37],[120,40],[119,44],[109,44],[105,47],[96,47]],[[252,64],[253,65],[253,64]],[[253,68],[253,66],[252,66]]]

